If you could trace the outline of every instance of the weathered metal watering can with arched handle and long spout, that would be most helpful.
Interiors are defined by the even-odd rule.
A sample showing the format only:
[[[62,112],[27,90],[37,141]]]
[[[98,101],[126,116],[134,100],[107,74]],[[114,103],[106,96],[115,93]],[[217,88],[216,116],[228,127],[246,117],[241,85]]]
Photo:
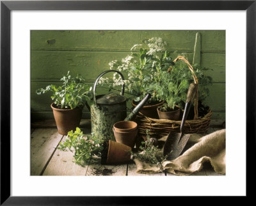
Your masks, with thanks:
[[[124,76],[120,71],[116,70],[108,70],[101,73],[95,80],[93,84],[93,104],[90,107],[91,112],[91,122],[92,122],[92,133],[95,136],[99,136],[99,138],[106,138],[108,140],[115,140],[115,136],[113,134],[113,124],[119,121],[128,121],[132,120],[132,118],[139,112],[140,108],[147,102],[150,98],[150,94],[147,94],[143,100],[141,100],[140,104],[134,110],[132,110],[131,114],[127,117],[127,107],[126,107],[126,98],[124,96],[124,88],[125,85],[122,85],[122,92],[120,94],[109,93],[105,95],[95,95],[95,90],[99,79],[109,72],[116,72],[122,80],[124,80]],[[126,118],[125,118],[126,117]]]

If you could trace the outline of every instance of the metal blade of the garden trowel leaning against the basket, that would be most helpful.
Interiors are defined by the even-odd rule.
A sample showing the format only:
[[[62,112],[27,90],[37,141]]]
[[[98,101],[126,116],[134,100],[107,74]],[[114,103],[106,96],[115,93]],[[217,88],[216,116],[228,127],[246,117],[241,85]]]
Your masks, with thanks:
[[[182,135],[180,138],[180,133],[170,132],[164,143],[163,154],[164,156],[168,155],[166,159],[173,160],[179,157],[189,140],[189,136],[190,135]]]

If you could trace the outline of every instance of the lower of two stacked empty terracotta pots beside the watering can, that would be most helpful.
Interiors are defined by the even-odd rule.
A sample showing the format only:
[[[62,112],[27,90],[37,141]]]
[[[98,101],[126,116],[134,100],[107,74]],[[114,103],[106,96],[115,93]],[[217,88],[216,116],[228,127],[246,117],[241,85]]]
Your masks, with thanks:
[[[115,135],[116,142],[124,143],[125,145],[133,148],[136,136],[138,135],[138,128],[127,132],[115,131],[113,128],[113,133]]]

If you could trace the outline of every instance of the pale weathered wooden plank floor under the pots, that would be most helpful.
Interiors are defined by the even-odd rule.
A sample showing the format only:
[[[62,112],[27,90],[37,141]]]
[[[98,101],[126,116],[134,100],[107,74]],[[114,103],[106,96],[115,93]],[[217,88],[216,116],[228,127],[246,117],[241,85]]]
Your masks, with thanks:
[[[212,133],[221,128],[209,128]],[[90,133],[90,129],[84,129],[84,133]],[[65,141],[66,136],[60,135],[56,128],[31,129],[31,175],[120,175],[120,176],[145,176],[136,173],[136,165],[133,161],[125,165],[101,165],[100,158],[93,157],[89,165],[79,166],[73,161],[73,153],[63,152],[57,149],[60,142]],[[152,175],[173,175],[171,173],[156,173]],[[205,164],[204,168],[193,175],[220,175]]]

